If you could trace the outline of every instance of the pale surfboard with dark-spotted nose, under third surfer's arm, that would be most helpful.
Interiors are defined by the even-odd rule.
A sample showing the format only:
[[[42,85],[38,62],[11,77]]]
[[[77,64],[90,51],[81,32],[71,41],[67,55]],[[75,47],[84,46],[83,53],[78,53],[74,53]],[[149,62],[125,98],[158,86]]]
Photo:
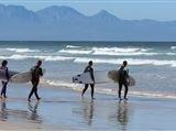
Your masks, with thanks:
[[[108,77],[108,72],[95,70],[95,84],[106,84],[110,83],[111,79]],[[73,83],[75,84],[94,84],[90,73],[78,74],[73,77]]]

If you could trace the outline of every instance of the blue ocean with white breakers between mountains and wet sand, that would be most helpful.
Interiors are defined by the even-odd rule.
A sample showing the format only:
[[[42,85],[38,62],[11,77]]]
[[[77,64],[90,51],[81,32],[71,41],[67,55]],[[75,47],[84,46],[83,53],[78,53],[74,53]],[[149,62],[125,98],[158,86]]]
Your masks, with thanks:
[[[0,42],[0,59],[9,69],[26,72],[43,61],[46,74],[41,84],[81,91],[84,85],[72,83],[89,61],[95,70],[118,69],[128,61],[135,87],[129,95],[176,98],[176,43],[174,42]],[[96,91],[117,95],[113,83],[96,85]]]

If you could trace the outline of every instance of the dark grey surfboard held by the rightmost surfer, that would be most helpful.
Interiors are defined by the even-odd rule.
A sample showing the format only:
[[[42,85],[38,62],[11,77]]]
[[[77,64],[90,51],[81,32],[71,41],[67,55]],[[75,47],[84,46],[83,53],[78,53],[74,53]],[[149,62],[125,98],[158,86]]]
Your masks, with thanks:
[[[119,83],[119,73],[118,73],[118,70],[110,70],[108,73],[108,76],[114,83]],[[135,79],[131,75],[129,75],[129,86],[135,86]]]

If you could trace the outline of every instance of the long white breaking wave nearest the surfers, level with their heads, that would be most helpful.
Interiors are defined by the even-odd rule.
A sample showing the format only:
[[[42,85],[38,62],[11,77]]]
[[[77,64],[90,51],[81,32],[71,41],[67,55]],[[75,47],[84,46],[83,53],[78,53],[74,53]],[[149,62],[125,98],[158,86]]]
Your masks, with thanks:
[[[14,54],[11,56],[0,56],[0,59],[28,59],[28,58],[40,58],[43,61],[59,62],[59,61],[72,61],[74,63],[87,63],[94,61],[97,64],[122,64],[125,59],[129,65],[169,65],[176,67],[176,61],[167,59],[145,59],[145,58],[96,58],[96,57],[69,57],[69,56],[52,56],[52,55],[21,55]]]

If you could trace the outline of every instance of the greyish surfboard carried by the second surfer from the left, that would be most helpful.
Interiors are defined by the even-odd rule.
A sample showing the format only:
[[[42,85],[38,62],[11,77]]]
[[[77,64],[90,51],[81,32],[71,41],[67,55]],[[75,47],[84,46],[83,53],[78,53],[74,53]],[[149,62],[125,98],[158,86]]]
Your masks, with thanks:
[[[45,74],[45,69],[43,69],[43,74]],[[23,84],[23,83],[29,83],[32,79],[32,73],[31,70],[29,72],[24,72],[24,73],[20,73],[20,74],[15,74],[11,77],[11,81],[12,83],[19,83],[19,84]]]

